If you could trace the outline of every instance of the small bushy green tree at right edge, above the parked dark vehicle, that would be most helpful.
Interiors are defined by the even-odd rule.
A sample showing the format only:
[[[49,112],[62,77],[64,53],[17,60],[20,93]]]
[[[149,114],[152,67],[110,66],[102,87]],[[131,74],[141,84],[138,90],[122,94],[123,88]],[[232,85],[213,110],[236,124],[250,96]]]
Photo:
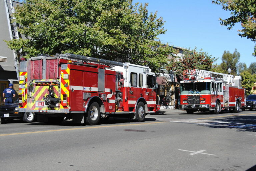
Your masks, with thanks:
[[[256,82],[256,74],[251,74],[248,71],[243,71],[240,76],[242,77],[241,85],[245,87],[246,94],[249,95],[252,90],[252,86]]]

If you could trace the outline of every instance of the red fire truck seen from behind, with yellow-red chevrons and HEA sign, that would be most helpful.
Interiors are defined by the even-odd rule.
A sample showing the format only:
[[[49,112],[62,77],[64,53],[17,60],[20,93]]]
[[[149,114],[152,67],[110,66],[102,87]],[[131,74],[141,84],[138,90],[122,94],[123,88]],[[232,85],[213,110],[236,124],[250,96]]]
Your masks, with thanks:
[[[109,116],[140,122],[160,108],[156,87],[148,67],[74,54],[41,55],[20,63],[19,112],[55,123],[66,117],[95,125]]]

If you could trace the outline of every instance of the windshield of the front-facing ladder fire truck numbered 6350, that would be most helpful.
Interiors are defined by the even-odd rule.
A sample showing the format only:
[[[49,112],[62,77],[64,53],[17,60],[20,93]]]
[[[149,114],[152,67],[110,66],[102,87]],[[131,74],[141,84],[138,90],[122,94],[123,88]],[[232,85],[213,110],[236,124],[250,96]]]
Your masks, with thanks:
[[[181,83],[180,94],[210,94],[211,83]]]

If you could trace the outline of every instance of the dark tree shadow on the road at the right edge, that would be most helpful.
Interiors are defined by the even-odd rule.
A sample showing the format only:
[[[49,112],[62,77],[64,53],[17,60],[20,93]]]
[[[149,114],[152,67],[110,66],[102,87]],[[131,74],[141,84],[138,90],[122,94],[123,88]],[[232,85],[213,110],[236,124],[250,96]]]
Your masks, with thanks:
[[[230,128],[237,131],[256,132],[256,116],[229,116],[224,118],[213,119],[212,122],[205,122],[210,125],[203,125],[210,128]]]

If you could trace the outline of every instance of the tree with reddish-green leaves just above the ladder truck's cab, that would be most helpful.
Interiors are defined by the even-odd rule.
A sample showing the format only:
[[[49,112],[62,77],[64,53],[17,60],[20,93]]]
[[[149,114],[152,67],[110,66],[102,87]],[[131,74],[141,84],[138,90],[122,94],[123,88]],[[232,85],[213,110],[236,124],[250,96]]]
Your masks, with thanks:
[[[171,59],[171,69],[175,71],[177,76],[182,76],[185,70],[207,70],[212,71],[213,63],[216,59],[208,55],[207,52],[203,52],[201,49],[199,52],[193,50],[184,50],[182,57],[176,57]]]

